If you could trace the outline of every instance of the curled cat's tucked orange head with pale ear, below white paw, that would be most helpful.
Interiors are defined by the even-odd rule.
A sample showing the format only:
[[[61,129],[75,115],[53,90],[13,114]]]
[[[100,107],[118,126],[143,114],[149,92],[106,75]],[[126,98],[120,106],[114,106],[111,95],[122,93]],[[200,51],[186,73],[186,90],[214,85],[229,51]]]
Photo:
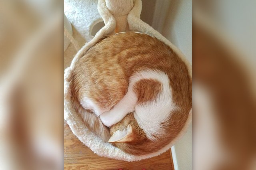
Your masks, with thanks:
[[[141,142],[146,140],[144,131],[138,126],[133,113],[129,113],[116,125],[110,127],[111,137],[108,142]]]

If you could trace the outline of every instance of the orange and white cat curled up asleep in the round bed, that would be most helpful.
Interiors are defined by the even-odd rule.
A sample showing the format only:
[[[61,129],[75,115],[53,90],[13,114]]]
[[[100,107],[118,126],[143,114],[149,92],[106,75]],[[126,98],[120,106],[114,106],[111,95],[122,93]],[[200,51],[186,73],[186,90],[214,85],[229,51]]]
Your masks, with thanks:
[[[72,106],[88,128],[134,155],[170,143],[192,108],[186,64],[165,43],[136,32],[88,49],[75,64],[70,89]]]

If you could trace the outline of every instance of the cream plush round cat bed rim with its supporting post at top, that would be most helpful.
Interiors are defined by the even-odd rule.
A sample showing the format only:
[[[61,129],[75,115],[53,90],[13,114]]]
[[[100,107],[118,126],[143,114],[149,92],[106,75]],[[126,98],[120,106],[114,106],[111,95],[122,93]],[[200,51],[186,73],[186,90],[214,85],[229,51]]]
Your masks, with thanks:
[[[95,37],[88,43],[86,43],[76,54],[70,67],[65,69],[64,73],[64,119],[68,123],[72,132],[78,137],[78,139],[88,146],[94,153],[99,156],[105,156],[108,158],[125,160],[125,161],[136,161],[146,158],[151,158],[157,156],[166,150],[168,150],[174,143],[184,134],[186,128],[188,127],[191,119],[192,113],[190,112],[188,119],[182,131],[178,136],[170,141],[169,144],[160,148],[157,152],[150,153],[144,156],[136,156],[123,152],[119,148],[112,146],[108,142],[104,142],[101,138],[96,136],[94,132],[90,131],[86,125],[84,125],[82,119],[79,117],[78,113],[70,107],[69,103],[69,83],[71,79],[70,72],[74,69],[75,63],[86,53],[86,51],[92,47],[98,40],[104,36],[114,35],[118,32],[141,32],[149,34],[161,40],[162,42],[169,45],[173,51],[175,51],[178,56],[186,63],[190,76],[192,76],[191,65],[185,59],[184,55],[177,49],[172,43],[170,43],[166,38],[164,38],[160,33],[150,27],[148,24],[140,20],[140,12],[142,9],[141,0],[99,0],[98,1],[98,11],[104,20],[105,26],[99,30]]]

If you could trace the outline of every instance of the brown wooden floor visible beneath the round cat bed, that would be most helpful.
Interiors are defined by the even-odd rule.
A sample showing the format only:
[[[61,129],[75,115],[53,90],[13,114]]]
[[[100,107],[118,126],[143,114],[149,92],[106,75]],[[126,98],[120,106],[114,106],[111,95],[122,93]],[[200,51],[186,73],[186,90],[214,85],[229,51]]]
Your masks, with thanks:
[[[65,170],[174,170],[170,150],[150,159],[125,162],[100,157],[85,146],[64,123]]]

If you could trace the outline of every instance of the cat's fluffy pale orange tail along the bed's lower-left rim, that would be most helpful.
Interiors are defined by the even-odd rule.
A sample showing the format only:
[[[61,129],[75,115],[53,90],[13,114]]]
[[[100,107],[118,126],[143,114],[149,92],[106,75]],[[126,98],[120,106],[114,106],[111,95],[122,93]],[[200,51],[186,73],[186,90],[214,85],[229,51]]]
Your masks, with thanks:
[[[100,117],[96,116],[89,110],[84,109],[77,99],[76,93],[74,93],[74,88],[72,88],[72,82],[70,82],[70,107],[76,111],[80,117],[83,119],[85,125],[94,132],[97,136],[102,138],[105,142],[108,142],[110,138],[110,132],[108,127],[106,127],[100,120]]]

